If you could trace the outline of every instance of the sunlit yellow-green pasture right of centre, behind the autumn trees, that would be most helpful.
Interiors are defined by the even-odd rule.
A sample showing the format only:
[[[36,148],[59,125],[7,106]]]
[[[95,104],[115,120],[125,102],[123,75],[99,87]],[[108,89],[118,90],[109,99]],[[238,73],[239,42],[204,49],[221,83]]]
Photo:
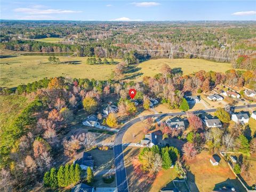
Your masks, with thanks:
[[[138,65],[141,68],[138,72],[143,76],[154,76],[160,73],[163,64],[173,68],[181,68],[184,75],[191,74],[199,70],[225,72],[231,69],[231,63],[220,63],[203,59],[151,59]],[[142,77],[141,77],[142,78]]]

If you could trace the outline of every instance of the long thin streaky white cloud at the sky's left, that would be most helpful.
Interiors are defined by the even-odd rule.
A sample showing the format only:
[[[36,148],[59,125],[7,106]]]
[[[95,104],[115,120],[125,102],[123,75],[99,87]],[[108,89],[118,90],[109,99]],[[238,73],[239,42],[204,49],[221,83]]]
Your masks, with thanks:
[[[36,8],[18,8],[14,12],[27,14],[59,14],[59,13],[81,13],[82,11],[60,10],[60,9],[36,9]]]

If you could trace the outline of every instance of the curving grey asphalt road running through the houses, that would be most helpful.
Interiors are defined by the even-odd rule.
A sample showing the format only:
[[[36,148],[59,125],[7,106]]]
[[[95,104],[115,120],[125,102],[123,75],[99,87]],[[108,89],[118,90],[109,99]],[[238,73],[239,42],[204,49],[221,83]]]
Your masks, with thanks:
[[[256,107],[256,104],[235,106],[235,107],[231,107],[231,110],[252,108],[252,107]],[[197,111],[191,111],[191,112],[195,114],[201,114],[201,113],[214,112],[215,110],[216,109],[205,109],[205,110],[197,110]],[[114,156],[115,156],[115,166],[116,166],[116,185],[117,185],[118,192],[129,192],[128,182],[126,177],[126,170],[124,166],[123,148],[122,148],[123,136],[124,136],[124,133],[127,131],[127,129],[129,129],[129,127],[132,126],[133,124],[149,117],[166,117],[166,116],[177,116],[177,115],[185,115],[185,114],[186,112],[152,114],[152,115],[146,115],[143,117],[134,118],[130,122],[127,122],[124,124],[121,130],[116,134],[115,145],[114,145]]]

